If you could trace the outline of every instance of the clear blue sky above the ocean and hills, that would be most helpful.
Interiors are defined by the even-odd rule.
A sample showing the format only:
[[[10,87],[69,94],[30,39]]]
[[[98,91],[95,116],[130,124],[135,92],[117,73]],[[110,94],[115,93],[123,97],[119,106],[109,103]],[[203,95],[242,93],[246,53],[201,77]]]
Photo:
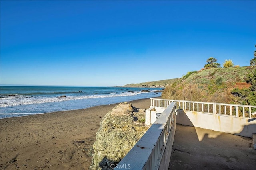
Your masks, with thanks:
[[[0,1],[1,85],[116,86],[248,66],[256,1]]]

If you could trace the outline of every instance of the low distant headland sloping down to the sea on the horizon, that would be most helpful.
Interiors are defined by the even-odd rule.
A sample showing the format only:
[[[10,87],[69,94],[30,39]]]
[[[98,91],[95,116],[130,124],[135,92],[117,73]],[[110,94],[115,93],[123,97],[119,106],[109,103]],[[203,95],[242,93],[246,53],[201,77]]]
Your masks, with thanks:
[[[167,80],[159,80],[159,81],[152,81],[152,82],[144,82],[144,83],[137,83],[137,84],[126,84],[123,87],[165,87],[167,84],[171,84],[177,81],[179,78],[167,79]]]

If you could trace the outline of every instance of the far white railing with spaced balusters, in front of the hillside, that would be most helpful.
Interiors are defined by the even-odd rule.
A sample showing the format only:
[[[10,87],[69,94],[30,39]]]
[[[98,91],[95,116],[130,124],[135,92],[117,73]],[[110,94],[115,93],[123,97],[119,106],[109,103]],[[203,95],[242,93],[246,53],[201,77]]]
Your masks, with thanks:
[[[244,118],[252,118],[256,112],[253,109],[256,106],[239,105],[239,104],[224,104],[224,103],[211,103],[211,102],[195,102],[186,100],[169,100],[169,99],[156,99],[151,98],[151,107],[166,108],[170,102],[176,102],[177,109],[186,111],[197,111],[201,113],[214,113],[218,115],[236,116]]]

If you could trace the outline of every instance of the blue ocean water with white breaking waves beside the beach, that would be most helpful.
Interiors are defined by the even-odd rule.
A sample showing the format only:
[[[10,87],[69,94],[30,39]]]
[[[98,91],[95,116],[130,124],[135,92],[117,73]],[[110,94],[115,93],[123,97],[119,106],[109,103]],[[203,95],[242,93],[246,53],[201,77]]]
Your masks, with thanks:
[[[156,90],[162,88],[1,86],[0,118],[84,109],[161,96]]]

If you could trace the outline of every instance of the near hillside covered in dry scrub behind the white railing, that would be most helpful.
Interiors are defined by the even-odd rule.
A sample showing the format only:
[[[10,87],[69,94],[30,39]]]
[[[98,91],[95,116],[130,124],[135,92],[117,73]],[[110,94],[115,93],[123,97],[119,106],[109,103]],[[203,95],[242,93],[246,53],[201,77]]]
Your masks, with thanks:
[[[246,75],[256,68],[211,68],[187,74],[166,86],[162,98],[204,102],[235,103],[231,90],[248,88]],[[250,86],[250,85],[249,85]]]

